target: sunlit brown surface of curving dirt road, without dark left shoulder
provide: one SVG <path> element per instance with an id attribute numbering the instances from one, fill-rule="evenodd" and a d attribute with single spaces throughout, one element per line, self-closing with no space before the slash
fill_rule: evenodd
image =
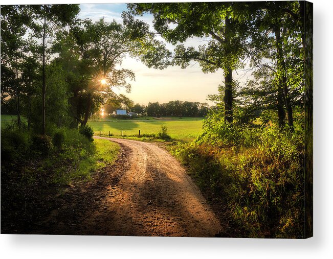
<path id="1" fill-rule="evenodd" d="M 104 211 L 97 210 L 91 216 L 95 226 L 104 222 L 104 234 L 214 237 L 219 232 L 217 217 L 185 169 L 167 151 L 153 143 L 104 139 L 118 143 L 125 154 L 119 165 L 122 176 L 107 190 Z"/>

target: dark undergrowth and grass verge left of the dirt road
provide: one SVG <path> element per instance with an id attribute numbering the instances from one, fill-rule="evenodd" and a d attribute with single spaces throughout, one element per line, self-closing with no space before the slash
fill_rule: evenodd
<path id="1" fill-rule="evenodd" d="M 89 136 L 88 136 L 89 137 Z M 108 140 L 92 142 L 76 129 L 50 127 L 44 136 L 12 127 L 1 129 L 2 232 L 10 224 L 28 229 L 66 185 L 88 180 L 112 164 L 120 147 Z M 39 216 L 38 216 L 39 215 Z"/>

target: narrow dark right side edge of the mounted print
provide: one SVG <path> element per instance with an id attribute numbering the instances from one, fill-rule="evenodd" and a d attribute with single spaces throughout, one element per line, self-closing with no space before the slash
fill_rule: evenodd
<path id="1" fill-rule="evenodd" d="M 313 3 L 300 1 L 305 75 L 305 229 L 304 238 L 313 237 Z"/>

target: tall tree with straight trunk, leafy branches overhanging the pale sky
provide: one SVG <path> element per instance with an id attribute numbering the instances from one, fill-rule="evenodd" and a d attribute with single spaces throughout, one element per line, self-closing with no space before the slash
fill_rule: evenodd
<path id="1" fill-rule="evenodd" d="M 247 20 L 250 12 L 244 11 L 251 4 L 242 3 L 171 3 L 171 4 L 129 4 L 135 15 L 144 12 L 153 14 L 154 29 L 173 44 L 186 39 L 209 37 L 208 44 L 185 48 L 177 45 L 169 56 L 174 64 L 183 68 L 190 60 L 198 61 L 203 72 L 223 69 L 225 79 L 225 122 L 233 121 L 233 78 L 236 68 L 243 66 L 241 59 L 247 42 Z M 199 22 L 198 22 L 199 21 Z"/>

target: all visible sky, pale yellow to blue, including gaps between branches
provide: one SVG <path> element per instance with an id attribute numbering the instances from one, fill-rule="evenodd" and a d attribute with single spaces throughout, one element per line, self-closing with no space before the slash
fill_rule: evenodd
<path id="1" fill-rule="evenodd" d="M 115 19 L 121 23 L 121 12 L 126 10 L 126 4 L 81 4 L 79 18 L 90 18 L 97 21 L 104 18 L 106 21 Z M 145 14 L 138 17 L 150 25 L 152 28 L 152 15 Z M 185 46 L 198 46 L 207 42 L 208 38 L 190 38 L 184 42 Z M 167 48 L 172 50 L 174 46 L 167 43 Z M 205 74 L 198 63 L 192 62 L 190 66 L 182 69 L 180 66 L 170 66 L 166 69 L 148 68 L 130 57 L 126 57 L 122 62 L 122 67 L 131 69 L 136 76 L 135 81 L 131 81 L 131 92 L 125 89 L 115 89 L 117 93 L 123 93 L 135 103 L 147 105 L 148 102 L 165 103 L 173 100 L 190 102 L 213 102 L 207 100 L 208 95 L 216 94 L 219 84 L 223 83 L 223 70 L 216 73 Z M 241 73 L 233 74 L 234 79 L 241 77 Z M 242 77 L 242 80 L 243 77 Z"/>

